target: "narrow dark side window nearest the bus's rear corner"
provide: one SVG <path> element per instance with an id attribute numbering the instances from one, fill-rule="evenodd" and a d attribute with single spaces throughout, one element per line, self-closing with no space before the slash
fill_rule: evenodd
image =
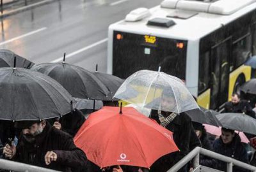
<path id="1" fill-rule="evenodd" d="M 209 89 L 210 78 L 210 52 L 205 52 L 199 57 L 199 94 Z"/>

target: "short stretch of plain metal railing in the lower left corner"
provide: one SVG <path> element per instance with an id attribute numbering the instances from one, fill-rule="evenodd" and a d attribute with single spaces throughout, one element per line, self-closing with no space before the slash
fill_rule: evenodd
<path id="1" fill-rule="evenodd" d="M 36 172 L 60 172 L 52 169 L 47 168 L 41 168 L 38 166 L 31 166 L 29 164 L 24 164 L 20 162 L 15 161 L 9 161 L 6 159 L 0 159 L 0 169 L 7 169 L 11 171 L 17 171 L 17 172 L 30 172 L 30 171 L 36 171 Z"/>

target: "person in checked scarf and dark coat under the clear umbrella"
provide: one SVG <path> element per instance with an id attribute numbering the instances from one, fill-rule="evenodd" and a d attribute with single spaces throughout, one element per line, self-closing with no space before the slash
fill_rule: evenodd
<path id="1" fill-rule="evenodd" d="M 161 109 L 172 109 L 175 106 L 175 98 L 173 93 L 164 89 L 161 97 Z M 168 171 L 174 164 L 179 162 L 189 153 L 189 145 L 191 142 L 191 133 L 195 133 L 191 118 L 186 113 L 175 113 L 163 110 L 152 110 L 150 118 L 166 129 L 173 132 L 173 140 L 175 141 L 179 152 L 164 155 L 151 166 L 150 171 Z M 179 171 L 187 171 L 188 167 L 184 166 Z"/>

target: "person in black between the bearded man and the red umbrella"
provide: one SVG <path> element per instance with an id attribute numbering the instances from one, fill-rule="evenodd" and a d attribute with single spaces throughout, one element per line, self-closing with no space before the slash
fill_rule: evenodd
<path id="1" fill-rule="evenodd" d="M 53 124 L 53 127 L 56 129 L 61 129 L 66 133 L 70 134 L 74 137 L 77 131 L 80 129 L 81 125 L 83 125 L 85 121 L 85 117 L 83 112 L 80 110 L 74 109 L 74 111 L 64 115 L 61 118 L 57 118 Z"/>

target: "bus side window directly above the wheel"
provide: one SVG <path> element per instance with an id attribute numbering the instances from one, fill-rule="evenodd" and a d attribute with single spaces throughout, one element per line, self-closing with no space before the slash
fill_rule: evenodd
<path id="1" fill-rule="evenodd" d="M 232 46 L 232 59 L 234 69 L 241 66 L 251 55 L 252 36 L 248 34 L 243 39 L 236 41 Z"/>

